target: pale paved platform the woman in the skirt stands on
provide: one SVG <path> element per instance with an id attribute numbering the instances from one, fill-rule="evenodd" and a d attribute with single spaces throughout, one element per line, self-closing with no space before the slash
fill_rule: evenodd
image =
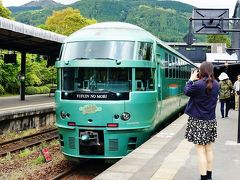
<path id="1" fill-rule="evenodd" d="M 221 118 L 217 109 L 218 137 L 214 143 L 213 180 L 240 180 L 238 111 Z M 193 143 L 184 138 L 187 115 L 182 115 L 139 148 L 99 174 L 94 180 L 198 180 L 200 174 Z"/>

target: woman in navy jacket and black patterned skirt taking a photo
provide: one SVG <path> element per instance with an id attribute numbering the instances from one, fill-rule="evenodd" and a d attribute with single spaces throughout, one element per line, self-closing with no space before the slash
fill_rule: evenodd
<path id="1" fill-rule="evenodd" d="M 195 144 L 201 180 L 212 179 L 212 143 L 217 137 L 215 109 L 219 84 L 214 79 L 213 65 L 204 61 L 200 71 L 192 72 L 184 88 L 189 96 L 185 113 L 189 115 L 185 138 Z"/>

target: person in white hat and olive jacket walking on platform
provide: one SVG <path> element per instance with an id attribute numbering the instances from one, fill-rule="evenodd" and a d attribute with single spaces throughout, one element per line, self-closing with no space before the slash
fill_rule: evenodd
<path id="1" fill-rule="evenodd" d="M 220 80 L 220 91 L 219 91 L 219 100 L 220 100 L 220 111 L 222 118 L 228 117 L 228 111 L 230 109 L 230 100 L 231 100 L 231 91 L 233 90 L 232 82 L 229 80 L 228 75 L 225 72 L 222 72 L 218 77 Z M 225 116 L 224 116 L 224 106 L 225 108 Z"/>

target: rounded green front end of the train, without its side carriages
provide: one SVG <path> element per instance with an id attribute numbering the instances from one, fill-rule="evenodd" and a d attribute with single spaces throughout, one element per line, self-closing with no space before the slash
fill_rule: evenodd
<path id="1" fill-rule="evenodd" d="M 153 42 L 111 39 L 113 31 L 106 28 L 103 38 L 96 26 L 70 36 L 56 62 L 56 126 L 61 151 L 70 160 L 121 158 L 154 129 Z"/>

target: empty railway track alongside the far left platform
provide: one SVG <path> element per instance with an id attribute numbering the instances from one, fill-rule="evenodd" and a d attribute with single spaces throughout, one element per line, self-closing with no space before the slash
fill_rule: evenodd
<path id="1" fill-rule="evenodd" d="M 0 143 L 0 156 L 4 156 L 8 153 L 35 146 L 41 144 L 44 141 L 50 141 L 56 138 L 58 138 L 57 129 L 51 128 L 36 134 L 24 136 L 9 141 L 4 141 Z"/>

